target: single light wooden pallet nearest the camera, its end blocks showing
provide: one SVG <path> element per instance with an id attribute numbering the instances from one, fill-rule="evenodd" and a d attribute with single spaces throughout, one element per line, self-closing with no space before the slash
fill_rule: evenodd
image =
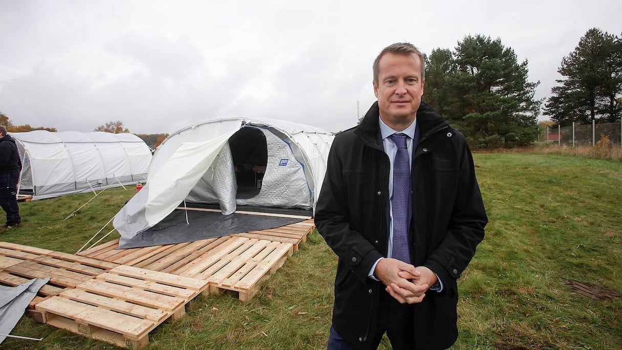
<path id="1" fill-rule="evenodd" d="M 141 349 L 149 332 L 185 315 L 207 281 L 120 265 L 35 305 L 45 322 L 121 347 Z"/>

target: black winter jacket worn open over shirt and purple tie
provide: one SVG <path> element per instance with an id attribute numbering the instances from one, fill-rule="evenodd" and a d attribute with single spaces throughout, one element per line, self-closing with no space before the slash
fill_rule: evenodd
<path id="1" fill-rule="evenodd" d="M 384 285 L 368 277 L 388 241 L 389 157 L 379 143 L 374 103 L 361 124 L 335 136 L 315 210 L 315 224 L 338 256 L 333 327 L 356 348 L 369 348 L 372 319 Z M 471 151 L 463 135 L 422 102 L 412 161 L 412 264 L 443 282 L 414 308 L 417 349 L 455 343 L 457 279 L 475 254 L 488 222 Z M 415 136 L 415 142 L 417 136 Z"/>

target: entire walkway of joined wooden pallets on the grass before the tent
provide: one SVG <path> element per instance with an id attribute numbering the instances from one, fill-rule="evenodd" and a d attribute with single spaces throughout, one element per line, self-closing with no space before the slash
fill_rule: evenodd
<path id="1" fill-rule="evenodd" d="M 116 249 L 119 240 L 78 255 L 0 242 L 0 284 L 51 277 L 30 316 L 52 326 L 140 349 L 149 332 L 185 315 L 199 293 L 233 290 L 253 298 L 259 285 L 305 242 L 313 220 L 277 229 L 157 247 Z"/>

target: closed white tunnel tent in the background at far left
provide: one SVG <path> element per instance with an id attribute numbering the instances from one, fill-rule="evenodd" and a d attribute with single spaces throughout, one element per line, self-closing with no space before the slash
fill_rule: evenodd
<path id="1" fill-rule="evenodd" d="M 138 136 L 96 131 L 9 133 L 22 158 L 20 192 L 44 199 L 146 181 L 151 151 Z"/>

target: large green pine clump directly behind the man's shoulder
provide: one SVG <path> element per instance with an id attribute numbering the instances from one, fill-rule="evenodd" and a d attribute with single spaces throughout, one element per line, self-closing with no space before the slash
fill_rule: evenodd
<path id="1" fill-rule="evenodd" d="M 509 148 L 536 140 L 542 101 L 534 100 L 539 82 L 527 81 L 527 60 L 519 64 L 513 49 L 483 35 L 466 36 L 455 50 L 445 78 L 426 77 L 424 98 L 431 97 L 430 104 L 474 148 Z M 438 56 L 440 62 L 436 52 L 430 55 L 430 67 L 445 66 L 447 50 Z"/>

